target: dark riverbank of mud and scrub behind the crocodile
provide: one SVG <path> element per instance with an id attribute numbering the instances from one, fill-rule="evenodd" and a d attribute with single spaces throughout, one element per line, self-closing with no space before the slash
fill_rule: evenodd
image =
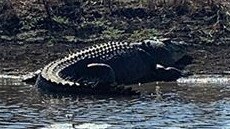
<path id="1" fill-rule="evenodd" d="M 111 5 L 53 1 L 47 4 L 50 15 L 44 3 L 36 0 L 0 4 L 2 74 L 36 71 L 95 43 L 151 38 L 187 42 L 188 55 L 193 60 L 185 67 L 186 71 L 197 74 L 230 71 L 229 3 L 190 1 L 153 6 L 138 2 L 116 1 Z"/>

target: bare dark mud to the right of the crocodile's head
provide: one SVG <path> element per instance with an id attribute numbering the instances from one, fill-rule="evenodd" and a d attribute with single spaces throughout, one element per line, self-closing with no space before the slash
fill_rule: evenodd
<path id="1" fill-rule="evenodd" d="M 193 61 L 185 70 L 194 74 L 229 74 L 229 47 L 229 44 L 191 47 L 189 55 Z"/>

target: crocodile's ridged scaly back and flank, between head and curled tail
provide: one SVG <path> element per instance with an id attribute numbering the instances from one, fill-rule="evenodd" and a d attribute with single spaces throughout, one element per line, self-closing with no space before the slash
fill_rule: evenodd
<path id="1" fill-rule="evenodd" d="M 127 42 L 109 42 L 82 49 L 54 61 L 43 69 L 41 75 L 51 82 L 79 85 L 78 81 L 87 74 L 85 72 L 87 65 L 91 63 L 105 63 L 112 66 L 118 81 L 129 80 L 128 74 L 134 74 L 136 68 L 142 65 L 141 57 L 138 57 L 138 46 Z M 122 80 L 124 78 L 122 75 L 128 78 Z"/>

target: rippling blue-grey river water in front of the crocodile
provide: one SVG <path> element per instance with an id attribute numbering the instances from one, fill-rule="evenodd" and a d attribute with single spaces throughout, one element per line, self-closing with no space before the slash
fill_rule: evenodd
<path id="1" fill-rule="evenodd" d="M 18 77 L 1 78 L 0 128 L 230 129 L 230 85 L 221 81 L 133 86 L 141 96 L 73 97 L 41 93 Z"/>

